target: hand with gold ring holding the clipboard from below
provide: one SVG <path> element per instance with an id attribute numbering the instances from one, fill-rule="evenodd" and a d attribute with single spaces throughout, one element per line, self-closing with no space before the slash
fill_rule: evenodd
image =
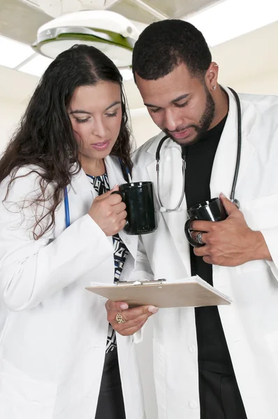
<path id="1" fill-rule="evenodd" d="M 154 306 L 141 306 L 129 309 L 129 305 L 126 302 L 113 302 L 108 300 L 105 303 L 107 311 L 107 319 L 112 325 L 112 328 L 116 330 L 120 335 L 130 336 L 138 332 L 143 325 L 145 325 L 147 319 L 152 314 L 157 313 L 159 309 Z M 117 323 L 117 313 L 121 312 L 124 318 L 124 323 Z"/>

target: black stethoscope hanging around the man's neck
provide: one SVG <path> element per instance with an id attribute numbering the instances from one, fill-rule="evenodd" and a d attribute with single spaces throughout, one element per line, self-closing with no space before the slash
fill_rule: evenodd
<path id="1" fill-rule="evenodd" d="M 228 89 L 231 90 L 231 92 L 233 93 L 233 96 L 235 97 L 235 101 L 237 104 L 237 160 L 235 163 L 235 174 L 233 176 L 233 185 L 232 185 L 232 190 L 231 190 L 231 196 L 230 196 L 230 200 L 232 203 L 234 203 L 237 208 L 240 207 L 240 202 L 235 199 L 235 186 L 237 185 L 237 176 L 238 176 L 238 171 L 240 170 L 240 154 L 241 154 L 241 144 L 242 144 L 242 119 L 241 119 L 241 106 L 240 106 L 240 98 L 238 97 L 238 94 L 231 89 L 231 87 L 228 87 Z M 179 210 L 180 206 L 182 205 L 182 200 L 184 199 L 184 186 L 185 186 L 185 170 L 186 170 L 186 151 L 183 152 L 182 154 L 182 194 L 180 196 L 180 200 L 179 203 L 177 204 L 177 206 L 175 208 L 166 208 L 163 206 L 162 202 L 161 202 L 161 195 L 160 195 L 160 186 L 159 186 L 159 163 L 160 163 L 160 151 L 161 151 L 161 147 L 163 145 L 163 142 L 165 142 L 168 139 L 168 135 L 165 135 L 163 138 L 161 138 L 159 145 L 156 149 L 156 182 L 157 182 L 157 195 L 159 198 L 159 204 L 161 205 L 160 207 L 160 211 L 161 212 L 175 212 L 177 210 Z M 184 147 L 185 149 L 185 147 Z"/>

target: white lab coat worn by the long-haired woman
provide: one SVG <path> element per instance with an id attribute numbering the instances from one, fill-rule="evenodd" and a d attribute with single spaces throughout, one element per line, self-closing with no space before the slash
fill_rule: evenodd
<path id="1" fill-rule="evenodd" d="M 124 183 L 117 158 L 105 166 L 111 187 Z M 25 205 L 23 217 L 19 201 L 36 188 L 38 175 L 17 179 L 0 207 L 0 418 L 94 419 L 108 321 L 105 299 L 85 287 L 113 283 L 112 237 L 87 214 L 96 192 L 81 171 L 68 188 L 71 226 L 65 230 L 61 203 L 54 230 L 35 241 L 34 214 Z M 128 278 L 137 237 L 119 234 L 130 252 Z M 117 335 L 117 345 L 126 419 L 145 418 L 133 337 Z"/>

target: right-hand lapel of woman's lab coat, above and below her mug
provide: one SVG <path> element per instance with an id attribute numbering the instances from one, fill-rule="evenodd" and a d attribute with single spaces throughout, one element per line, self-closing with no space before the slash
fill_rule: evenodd
<path id="1" fill-rule="evenodd" d="M 115 184 L 124 184 L 126 183 L 124 175 L 122 172 L 122 167 L 119 164 L 119 159 L 116 156 L 108 156 L 105 158 L 105 167 L 108 175 L 108 180 L 110 184 L 110 189 L 112 189 Z M 124 233 L 124 230 L 119 231 L 119 237 L 129 249 L 129 252 L 136 260 L 137 257 L 137 247 L 138 247 L 138 236 L 136 235 L 127 235 Z"/>

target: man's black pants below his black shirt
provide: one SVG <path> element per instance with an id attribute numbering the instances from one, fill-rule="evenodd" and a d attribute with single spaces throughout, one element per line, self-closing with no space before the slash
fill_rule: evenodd
<path id="1" fill-rule="evenodd" d="M 247 419 L 235 376 L 199 369 L 200 419 Z"/>

